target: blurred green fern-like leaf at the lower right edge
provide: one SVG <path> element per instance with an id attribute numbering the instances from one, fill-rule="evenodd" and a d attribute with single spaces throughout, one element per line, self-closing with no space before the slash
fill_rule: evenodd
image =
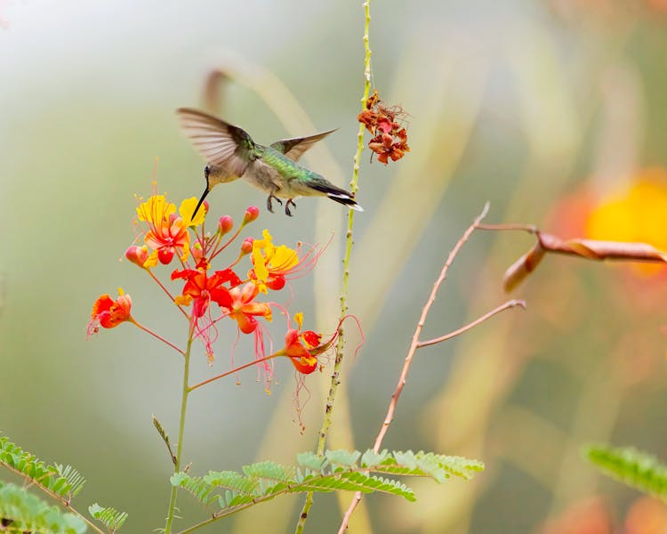
<path id="1" fill-rule="evenodd" d="M 656 457 L 634 447 L 588 445 L 583 454 L 598 469 L 667 502 L 667 465 Z"/>

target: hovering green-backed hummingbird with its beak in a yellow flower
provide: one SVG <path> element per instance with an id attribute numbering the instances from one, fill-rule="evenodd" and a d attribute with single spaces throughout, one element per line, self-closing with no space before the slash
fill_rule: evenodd
<path id="1" fill-rule="evenodd" d="M 203 111 L 180 108 L 176 113 L 183 132 L 207 161 L 204 169 L 206 187 L 193 217 L 215 185 L 238 178 L 244 178 L 254 187 L 269 193 L 266 206 L 271 213 L 273 200 L 282 206 L 280 198 L 286 198 L 285 214 L 292 216 L 290 206 L 296 207 L 294 198 L 317 196 L 364 211 L 352 193 L 297 163 L 303 152 L 334 130 L 308 137 L 281 139 L 265 147 L 253 142 L 242 128 Z"/>

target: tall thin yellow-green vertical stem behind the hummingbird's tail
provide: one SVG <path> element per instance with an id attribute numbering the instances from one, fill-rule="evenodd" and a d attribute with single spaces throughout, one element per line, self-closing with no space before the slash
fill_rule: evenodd
<path id="1" fill-rule="evenodd" d="M 366 0 L 364 7 L 364 95 L 361 98 L 361 109 L 366 109 L 366 101 L 368 94 L 371 92 L 371 47 L 368 40 L 368 28 L 371 24 L 371 1 Z M 364 150 L 364 129 L 365 125 L 359 124 L 357 153 L 354 156 L 354 165 L 352 167 L 352 180 L 350 181 L 350 190 L 352 194 L 358 191 L 358 176 L 359 176 L 359 161 L 361 160 L 361 153 Z M 341 289 L 341 320 L 348 312 L 348 288 L 350 284 L 350 255 L 352 253 L 352 229 L 354 228 L 354 210 L 348 211 L 348 231 L 345 241 L 345 255 L 342 260 L 342 289 Z M 339 328 L 338 343 L 336 344 L 336 358 L 333 362 L 333 374 L 331 376 L 331 385 L 329 387 L 329 394 L 326 398 L 325 416 L 322 419 L 322 426 L 319 430 L 319 437 L 317 439 L 317 454 L 321 455 L 325 451 L 326 437 L 329 433 L 329 428 L 332 424 L 333 403 L 336 399 L 336 392 L 338 391 L 338 384 L 341 384 L 341 369 L 343 350 L 345 348 L 345 338 L 343 336 L 343 329 Z M 302 534 L 303 529 L 308 519 L 310 506 L 313 504 L 313 492 L 309 491 L 306 495 L 306 501 L 303 503 L 299 522 L 296 525 L 296 534 Z"/>

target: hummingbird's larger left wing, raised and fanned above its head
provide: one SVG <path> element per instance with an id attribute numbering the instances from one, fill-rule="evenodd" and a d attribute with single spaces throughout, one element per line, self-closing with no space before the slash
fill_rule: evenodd
<path id="1" fill-rule="evenodd" d="M 257 158 L 253 140 L 238 126 L 197 109 L 179 108 L 176 113 L 183 132 L 206 161 L 221 166 L 229 175 L 241 176 Z"/>

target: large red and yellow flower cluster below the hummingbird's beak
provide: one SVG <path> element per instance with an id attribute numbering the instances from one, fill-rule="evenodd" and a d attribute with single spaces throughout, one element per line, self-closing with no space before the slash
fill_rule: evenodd
<path id="1" fill-rule="evenodd" d="M 204 209 L 193 218 L 195 206 L 197 198 L 189 198 L 177 210 L 164 195 L 157 194 L 141 201 L 135 220 L 140 228 L 139 236 L 126 250 L 125 257 L 145 270 L 171 299 L 174 308 L 189 322 L 189 339 L 202 341 L 210 362 L 213 361 L 213 343 L 218 337 L 216 325 L 229 318 L 236 323 L 239 334 L 254 336 L 254 360 L 262 364 L 267 380 L 271 376 L 268 361 L 277 356 L 289 358 L 301 374 L 312 373 L 318 366 L 317 356 L 331 346 L 330 342 L 322 344 L 321 334 L 302 331 L 301 313 L 293 316 L 298 328 L 291 328 L 290 313 L 285 307 L 263 299 L 269 292 L 283 289 L 287 280 L 312 269 L 322 250 L 303 247 L 301 243 L 296 249 L 276 246 L 269 231 L 264 230 L 262 239 L 243 239 L 232 261 L 221 269 L 214 269 L 213 264 L 220 261 L 221 253 L 237 242 L 245 226 L 259 217 L 260 210 L 256 206 L 248 207 L 243 223 L 235 232 L 232 232 L 234 221 L 229 215 L 218 220 L 214 231 L 205 231 L 208 205 L 205 203 Z M 241 270 L 244 260 L 249 260 L 245 273 Z M 160 265 L 172 263 L 176 264 L 176 269 L 169 279 L 176 289 L 168 287 L 170 282 L 161 281 L 154 272 Z M 135 320 L 131 308 L 130 295 L 122 290 L 116 300 L 110 295 L 101 295 L 92 306 L 88 335 L 96 334 L 100 327 L 115 328 L 122 322 L 130 322 L 185 354 Z M 276 312 L 287 321 L 285 345 L 267 355 L 264 326 Z"/>

